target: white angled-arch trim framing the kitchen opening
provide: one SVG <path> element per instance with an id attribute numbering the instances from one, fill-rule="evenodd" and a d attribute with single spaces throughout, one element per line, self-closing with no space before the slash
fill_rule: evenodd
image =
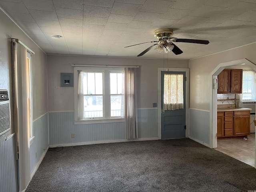
<path id="1" fill-rule="evenodd" d="M 211 72 L 210 74 L 210 82 L 212 82 L 212 86 L 210 86 L 210 148 L 217 147 L 217 89 L 213 89 L 213 80 L 217 78 L 218 74 L 222 72 L 225 67 L 243 65 L 246 64 L 254 71 L 256 71 L 256 65 L 250 62 L 247 59 L 234 60 L 229 62 L 224 62 L 218 64 L 218 66 Z M 255 144 L 256 150 L 256 144 Z M 255 164 L 256 164 L 256 154 L 255 154 Z M 254 166 L 255 167 L 255 166 Z"/>

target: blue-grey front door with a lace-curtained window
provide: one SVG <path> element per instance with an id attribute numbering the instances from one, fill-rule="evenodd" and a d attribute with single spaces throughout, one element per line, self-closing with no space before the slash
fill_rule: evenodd
<path id="1" fill-rule="evenodd" d="M 185 138 L 186 72 L 161 72 L 161 113 L 162 139 Z"/>

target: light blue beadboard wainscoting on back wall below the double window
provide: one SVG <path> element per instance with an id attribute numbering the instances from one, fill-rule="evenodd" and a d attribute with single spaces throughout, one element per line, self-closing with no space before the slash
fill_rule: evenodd
<path id="1" fill-rule="evenodd" d="M 74 124 L 74 112 L 49 112 L 49 144 L 125 139 L 124 122 Z M 74 138 L 71 138 L 74 134 Z M 139 138 L 158 137 L 157 108 L 138 109 Z"/>

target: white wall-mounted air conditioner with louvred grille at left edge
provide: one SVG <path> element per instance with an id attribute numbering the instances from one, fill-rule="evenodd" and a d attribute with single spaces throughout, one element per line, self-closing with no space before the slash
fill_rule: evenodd
<path id="1" fill-rule="evenodd" d="M 11 129 L 10 101 L 8 91 L 0 89 L 0 135 Z"/>

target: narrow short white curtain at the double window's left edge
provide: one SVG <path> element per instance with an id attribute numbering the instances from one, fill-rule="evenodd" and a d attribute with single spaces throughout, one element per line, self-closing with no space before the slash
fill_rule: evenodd
<path id="1" fill-rule="evenodd" d="M 78 120 L 84 119 L 84 72 L 78 70 Z"/>

